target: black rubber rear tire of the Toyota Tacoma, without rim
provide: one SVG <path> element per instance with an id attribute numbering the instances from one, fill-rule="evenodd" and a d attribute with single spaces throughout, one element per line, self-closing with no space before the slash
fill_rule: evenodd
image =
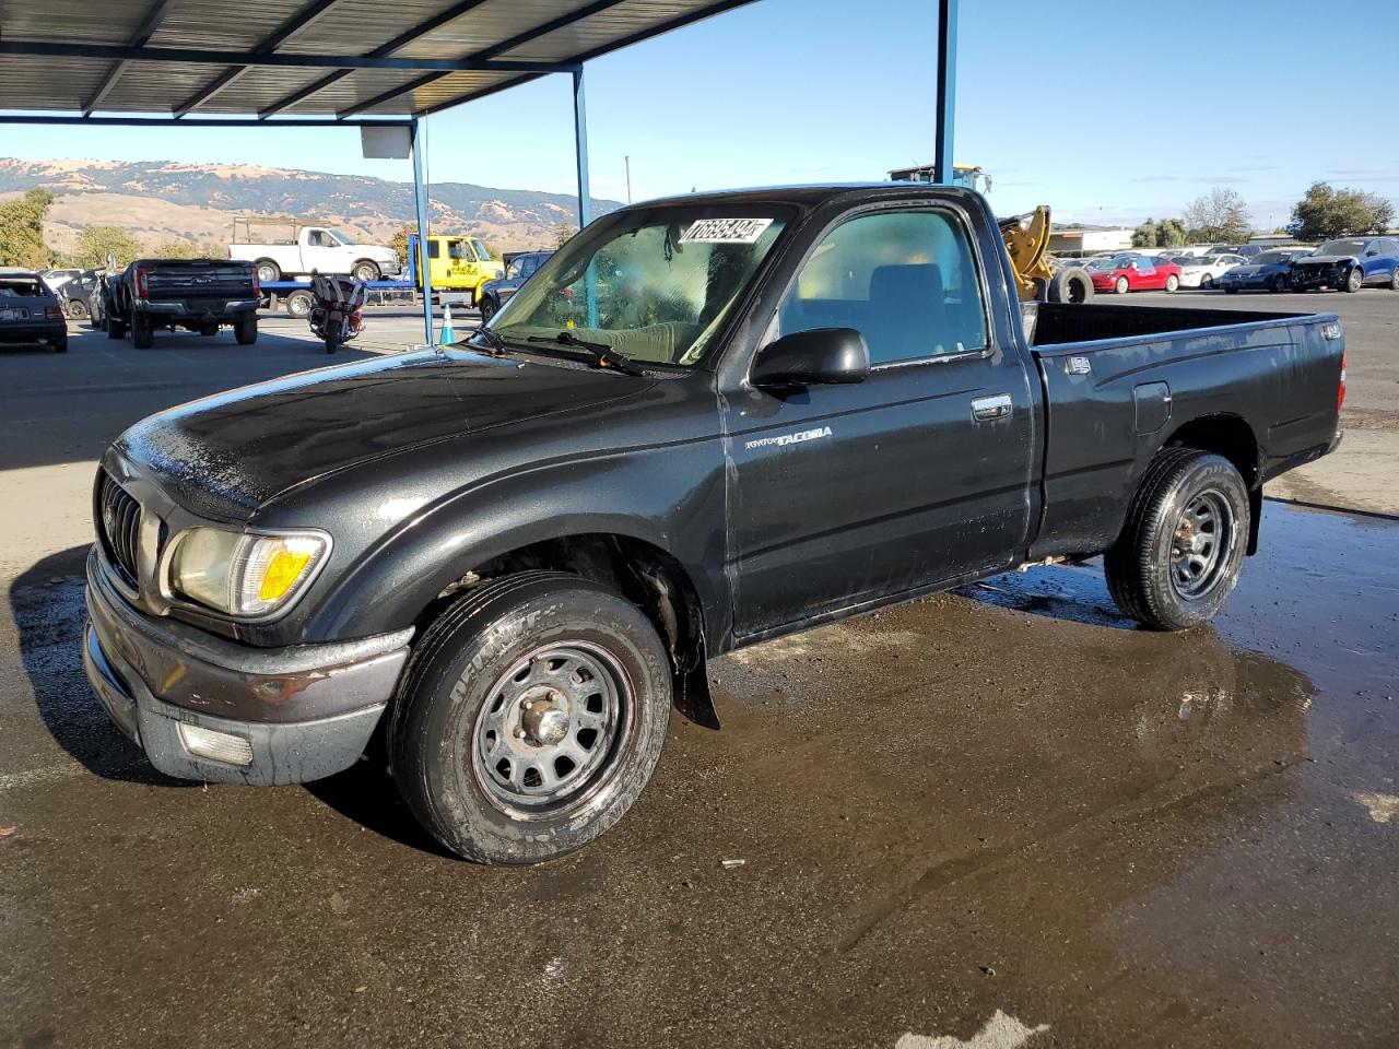
<path id="1" fill-rule="evenodd" d="M 1186 509 L 1217 497 L 1228 522 L 1209 586 L 1185 594 L 1175 582 L 1174 554 Z M 1112 600 L 1137 622 L 1158 631 L 1182 631 L 1209 622 L 1238 583 L 1249 534 L 1249 499 L 1244 478 L 1223 456 L 1193 448 L 1168 448 L 1147 466 L 1128 508 L 1118 541 L 1102 558 Z"/>

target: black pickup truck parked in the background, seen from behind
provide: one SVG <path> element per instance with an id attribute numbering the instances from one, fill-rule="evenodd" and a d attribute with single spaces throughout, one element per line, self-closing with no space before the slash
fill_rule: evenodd
<path id="1" fill-rule="evenodd" d="M 257 341 L 262 288 L 253 264 L 231 259 L 137 259 L 104 284 L 102 326 L 109 338 L 127 333 L 139 350 L 155 330 L 178 327 L 217 336 L 232 327 L 239 345 Z"/>

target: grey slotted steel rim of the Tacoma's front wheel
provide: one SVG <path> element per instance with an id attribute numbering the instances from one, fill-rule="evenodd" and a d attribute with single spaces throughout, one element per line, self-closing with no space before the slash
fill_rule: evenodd
<path id="1" fill-rule="evenodd" d="M 634 709 L 631 681 L 609 652 L 585 641 L 534 649 L 487 692 L 471 773 L 512 818 L 578 811 L 611 782 Z"/>

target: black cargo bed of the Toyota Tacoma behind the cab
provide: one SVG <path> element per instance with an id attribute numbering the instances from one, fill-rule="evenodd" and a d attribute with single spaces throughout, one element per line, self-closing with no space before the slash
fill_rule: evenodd
<path id="1" fill-rule="evenodd" d="M 1336 441 L 1335 313 L 1046 302 L 1025 336 L 1048 421 L 1034 558 L 1111 544 L 1157 449 L 1191 443 L 1186 421 L 1231 435 L 1255 492 Z"/>

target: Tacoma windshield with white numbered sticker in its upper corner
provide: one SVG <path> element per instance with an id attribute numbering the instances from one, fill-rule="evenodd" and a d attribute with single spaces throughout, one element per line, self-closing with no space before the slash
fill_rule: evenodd
<path id="1" fill-rule="evenodd" d="M 571 331 L 638 361 L 693 365 L 785 225 L 734 208 L 624 213 L 564 245 L 488 327 L 512 343 Z"/>

